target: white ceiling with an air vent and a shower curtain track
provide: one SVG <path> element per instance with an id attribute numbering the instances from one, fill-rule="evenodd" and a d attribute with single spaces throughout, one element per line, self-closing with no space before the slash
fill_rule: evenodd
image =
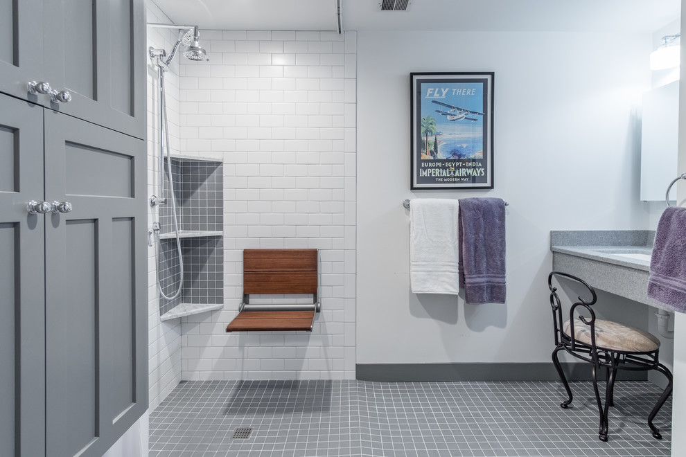
<path id="1" fill-rule="evenodd" d="M 337 0 L 152 0 L 176 24 L 221 30 L 338 30 Z M 343 30 L 648 31 L 680 0 L 340 0 Z"/>

